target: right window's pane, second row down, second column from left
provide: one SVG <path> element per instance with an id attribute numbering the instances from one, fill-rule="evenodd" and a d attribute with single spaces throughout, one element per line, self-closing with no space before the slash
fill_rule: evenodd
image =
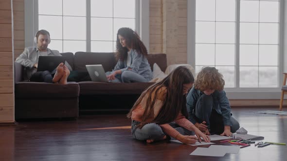
<path id="1" fill-rule="evenodd" d="M 216 22 L 216 43 L 235 43 L 235 22 Z"/>

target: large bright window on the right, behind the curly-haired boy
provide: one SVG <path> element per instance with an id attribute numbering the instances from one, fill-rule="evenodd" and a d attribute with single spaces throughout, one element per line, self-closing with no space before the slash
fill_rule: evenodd
<path id="1" fill-rule="evenodd" d="M 279 87 L 280 0 L 196 0 L 195 67 L 215 66 L 225 87 Z"/>

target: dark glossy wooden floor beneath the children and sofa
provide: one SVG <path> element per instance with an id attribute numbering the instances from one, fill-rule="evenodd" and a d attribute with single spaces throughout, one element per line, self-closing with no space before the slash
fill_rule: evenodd
<path id="1" fill-rule="evenodd" d="M 287 143 L 287 115 L 253 113 L 261 110 L 278 109 L 233 108 L 232 112 L 250 134 Z M 191 156 L 197 147 L 136 141 L 129 126 L 130 120 L 123 114 L 18 122 L 15 127 L 0 127 L 0 161 L 287 161 L 284 145 L 251 145 L 224 157 Z"/>

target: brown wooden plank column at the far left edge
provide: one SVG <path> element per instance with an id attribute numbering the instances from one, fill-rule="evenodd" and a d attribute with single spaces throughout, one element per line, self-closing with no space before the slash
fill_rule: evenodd
<path id="1" fill-rule="evenodd" d="M 0 1 L 0 123 L 14 118 L 12 0 Z"/>

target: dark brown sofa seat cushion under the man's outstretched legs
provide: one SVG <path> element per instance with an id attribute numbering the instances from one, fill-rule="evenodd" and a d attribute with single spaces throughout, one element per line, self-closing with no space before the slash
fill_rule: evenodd
<path id="1" fill-rule="evenodd" d="M 45 82 L 21 81 L 15 83 L 15 97 L 79 97 L 80 88 L 76 82 L 59 85 Z"/>

